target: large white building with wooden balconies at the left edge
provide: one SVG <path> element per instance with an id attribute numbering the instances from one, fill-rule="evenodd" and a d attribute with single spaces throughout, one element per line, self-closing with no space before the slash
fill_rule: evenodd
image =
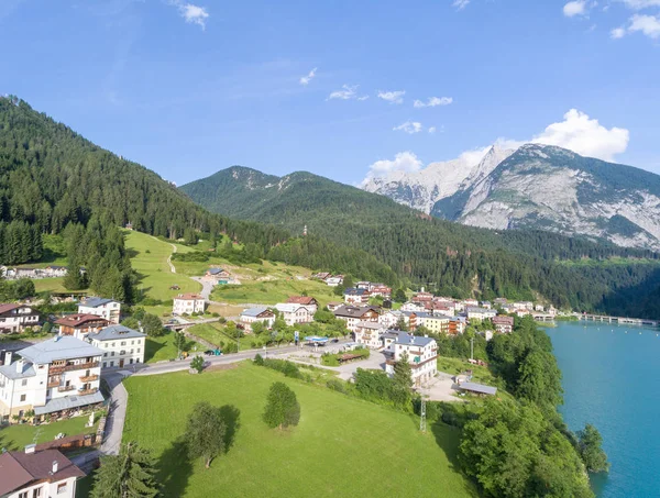
<path id="1" fill-rule="evenodd" d="M 0 419 L 23 417 L 34 410 L 36 420 L 76 414 L 103 402 L 99 391 L 103 351 L 85 341 L 57 335 L 18 352 L 7 353 L 0 366 Z"/>

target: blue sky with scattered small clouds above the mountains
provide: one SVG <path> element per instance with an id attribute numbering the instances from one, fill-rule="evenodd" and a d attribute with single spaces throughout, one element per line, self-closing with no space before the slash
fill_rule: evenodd
<path id="1" fill-rule="evenodd" d="M 0 44 L 0 93 L 178 185 L 498 139 L 660 173 L 660 0 L 2 0 Z"/>

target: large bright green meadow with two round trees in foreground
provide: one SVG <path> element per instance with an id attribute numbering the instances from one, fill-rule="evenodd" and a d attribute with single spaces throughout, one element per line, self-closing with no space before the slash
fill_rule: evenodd
<path id="1" fill-rule="evenodd" d="M 289 385 L 300 402 L 300 423 L 292 431 L 262 421 L 274 381 Z M 477 496 L 455 469 L 452 428 L 435 425 L 422 434 L 415 417 L 266 368 L 241 364 L 201 375 L 131 377 L 125 386 L 123 439 L 155 452 L 165 496 Z M 233 445 L 210 469 L 188 463 L 177 444 L 201 400 L 240 410 Z"/>

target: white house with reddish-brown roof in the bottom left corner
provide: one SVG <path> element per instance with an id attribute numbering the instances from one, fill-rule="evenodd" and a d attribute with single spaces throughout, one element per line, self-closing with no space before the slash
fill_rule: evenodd
<path id="1" fill-rule="evenodd" d="M 58 450 L 0 454 L 0 496 L 2 498 L 74 498 L 76 480 L 85 473 Z"/>

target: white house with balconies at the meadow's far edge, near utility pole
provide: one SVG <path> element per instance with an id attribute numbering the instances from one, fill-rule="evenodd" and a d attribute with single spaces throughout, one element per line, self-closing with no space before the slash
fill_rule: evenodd
<path id="1" fill-rule="evenodd" d="M 385 372 L 394 375 L 394 365 L 406 358 L 413 370 L 413 385 L 420 387 L 438 374 L 438 344 L 435 339 L 400 332 L 385 351 Z"/>

